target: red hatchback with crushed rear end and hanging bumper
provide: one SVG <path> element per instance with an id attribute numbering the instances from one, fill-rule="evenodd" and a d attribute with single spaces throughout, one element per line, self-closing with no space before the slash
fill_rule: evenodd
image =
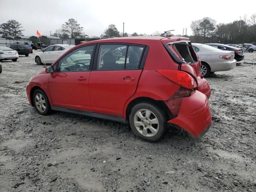
<path id="1" fill-rule="evenodd" d="M 116 50 L 125 54 L 116 56 Z M 32 77 L 28 100 L 36 111 L 70 112 L 123 123 L 146 140 L 168 123 L 194 137 L 210 128 L 211 90 L 188 38 L 140 36 L 80 44 Z"/>

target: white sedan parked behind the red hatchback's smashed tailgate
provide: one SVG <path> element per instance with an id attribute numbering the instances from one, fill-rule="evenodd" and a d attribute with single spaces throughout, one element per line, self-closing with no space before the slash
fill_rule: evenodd
<path id="1" fill-rule="evenodd" d="M 200 70 L 204 77 L 211 72 L 228 71 L 236 66 L 234 51 L 223 51 L 200 43 L 192 43 L 192 46 L 201 60 Z"/>

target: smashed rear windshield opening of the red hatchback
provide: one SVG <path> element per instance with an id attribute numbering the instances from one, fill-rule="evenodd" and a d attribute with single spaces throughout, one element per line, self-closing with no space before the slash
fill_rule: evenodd
<path id="1" fill-rule="evenodd" d="M 194 63 L 198 61 L 194 49 L 191 46 L 191 43 L 188 41 L 184 42 L 174 42 L 167 43 L 168 52 L 172 56 L 172 59 L 177 63 L 187 64 Z"/>

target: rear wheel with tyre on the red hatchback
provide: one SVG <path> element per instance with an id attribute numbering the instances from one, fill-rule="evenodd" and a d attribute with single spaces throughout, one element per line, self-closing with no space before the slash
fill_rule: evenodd
<path id="1" fill-rule="evenodd" d="M 145 140 L 155 142 L 166 132 L 166 116 L 155 104 L 136 104 L 129 116 L 132 131 Z"/>

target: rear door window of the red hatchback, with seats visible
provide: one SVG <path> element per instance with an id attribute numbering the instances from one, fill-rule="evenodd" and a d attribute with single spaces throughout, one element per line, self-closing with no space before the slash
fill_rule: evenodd
<path id="1" fill-rule="evenodd" d="M 97 70 L 138 69 L 143 50 L 144 46 L 102 44 L 98 53 Z"/>

